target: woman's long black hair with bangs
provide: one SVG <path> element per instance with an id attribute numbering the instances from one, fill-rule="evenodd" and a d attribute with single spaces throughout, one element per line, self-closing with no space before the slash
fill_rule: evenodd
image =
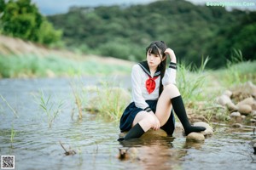
<path id="1" fill-rule="evenodd" d="M 159 88 L 159 95 L 163 92 L 163 84 L 162 79 L 166 73 L 166 51 L 167 45 L 163 41 L 154 41 L 149 44 L 149 46 L 146 48 L 146 55 L 149 54 L 156 54 L 160 56 L 161 62 L 160 65 L 160 88 Z M 162 58 L 161 58 L 162 56 Z"/>

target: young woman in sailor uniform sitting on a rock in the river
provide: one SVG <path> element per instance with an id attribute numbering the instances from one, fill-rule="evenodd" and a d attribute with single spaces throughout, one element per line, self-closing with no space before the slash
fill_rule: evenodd
<path id="1" fill-rule="evenodd" d="M 166 70 L 166 56 L 171 62 Z M 136 139 L 150 128 L 163 128 L 168 135 L 174 131 L 172 108 L 183 124 L 185 134 L 204 131 L 189 123 L 183 99 L 175 85 L 176 56 L 163 41 L 151 42 L 146 48 L 147 61 L 134 65 L 131 71 L 132 101 L 120 119 L 121 132 L 129 131 L 124 138 Z"/>

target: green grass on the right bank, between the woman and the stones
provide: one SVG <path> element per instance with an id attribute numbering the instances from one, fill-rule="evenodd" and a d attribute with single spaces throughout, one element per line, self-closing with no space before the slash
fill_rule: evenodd
<path id="1" fill-rule="evenodd" d="M 177 87 L 189 111 L 204 116 L 207 122 L 229 121 L 230 111 L 217 104 L 217 97 L 244 82 L 256 83 L 256 61 L 244 61 L 239 51 L 236 55 L 226 68 L 216 71 L 205 69 L 208 59 L 197 69 L 178 65 Z"/>

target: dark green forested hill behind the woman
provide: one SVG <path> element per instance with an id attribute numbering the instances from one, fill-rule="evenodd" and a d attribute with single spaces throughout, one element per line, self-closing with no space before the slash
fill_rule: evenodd
<path id="1" fill-rule="evenodd" d="M 256 13 L 196 6 L 183 0 L 147 5 L 70 8 L 67 14 L 48 16 L 63 31 L 69 47 L 85 54 L 121 59 L 145 59 L 145 48 L 163 40 L 179 60 L 218 68 L 239 54 L 256 59 Z"/>

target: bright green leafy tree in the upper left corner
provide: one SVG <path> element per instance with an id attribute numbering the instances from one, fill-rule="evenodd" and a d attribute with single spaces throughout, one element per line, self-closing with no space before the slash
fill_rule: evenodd
<path id="1" fill-rule="evenodd" d="M 9 0 L 7 3 L 1 0 L 0 3 L 3 10 L 1 24 L 4 35 L 45 44 L 61 39 L 61 31 L 54 30 L 31 0 Z"/>

